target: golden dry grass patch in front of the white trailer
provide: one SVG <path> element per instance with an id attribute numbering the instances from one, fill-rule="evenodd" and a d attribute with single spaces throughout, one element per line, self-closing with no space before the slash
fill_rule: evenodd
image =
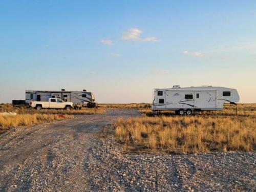
<path id="1" fill-rule="evenodd" d="M 198 153 L 256 150 L 256 104 L 225 105 L 223 111 L 192 116 L 144 115 L 115 123 L 115 136 L 127 151 Z"/>

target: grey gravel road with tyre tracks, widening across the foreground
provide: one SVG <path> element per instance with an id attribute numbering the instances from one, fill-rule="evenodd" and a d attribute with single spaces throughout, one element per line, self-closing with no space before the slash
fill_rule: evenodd
<path id="1" fill-rule="evenodd" d="M 129 155 L 98 132 L 136 110 L 108 110 L 0 136 L 0 191 L 255 191 L 256 153 Z"/>

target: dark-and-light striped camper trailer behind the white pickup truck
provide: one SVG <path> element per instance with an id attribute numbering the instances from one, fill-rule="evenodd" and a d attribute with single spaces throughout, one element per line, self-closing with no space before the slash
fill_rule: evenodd
<path id="1" fill-rule="evenodd" d="M 74 106 L 87 104 L 89 108 L 96 107 L 95 97 L 92 92 L 83 91 L 26 91 L 26 103 L 30 101 L 48 101 L 49 98 L 62 99 L 73 102 Z"/>

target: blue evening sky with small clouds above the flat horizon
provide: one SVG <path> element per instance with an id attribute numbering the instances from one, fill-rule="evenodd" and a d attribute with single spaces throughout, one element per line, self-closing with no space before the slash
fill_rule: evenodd
<path id="1" fill-rule="evenodd" d="M 173 85 L 256 102 L 256 1 L 0 2 L 0 103 L 61 89 L 152 102 Z"/>

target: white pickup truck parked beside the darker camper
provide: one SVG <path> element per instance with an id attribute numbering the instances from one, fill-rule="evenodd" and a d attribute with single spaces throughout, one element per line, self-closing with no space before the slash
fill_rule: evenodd
<path id="1" fill-rule="evenodd" d="M 71 110 L 71 108 L 74 106 L 72 102 L 64 102 L 63 100 L 57 98 L 50 98 L 48 102 L 30 101 L 29 105 L 31 108 L 35 108 L 36 110 L 41 110 L 42 108 Z"/>

